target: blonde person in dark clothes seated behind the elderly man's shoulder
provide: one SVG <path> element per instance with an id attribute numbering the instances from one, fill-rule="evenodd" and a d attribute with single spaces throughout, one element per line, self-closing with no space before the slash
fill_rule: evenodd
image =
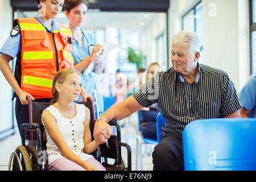
<path id="1" fill-rule="evenodd" d="M 146 79 L 149 80 L 160 71 L 158 63 L 151 63 L 147 69 Z M 158 104 L 152 104 L 149 107 L 144 107 L 139 111 L 139 125 L 141 126 L 141 134 L 144 138 L 157 140 L 156 132 L 156 116 L 159 113 Z"/>

